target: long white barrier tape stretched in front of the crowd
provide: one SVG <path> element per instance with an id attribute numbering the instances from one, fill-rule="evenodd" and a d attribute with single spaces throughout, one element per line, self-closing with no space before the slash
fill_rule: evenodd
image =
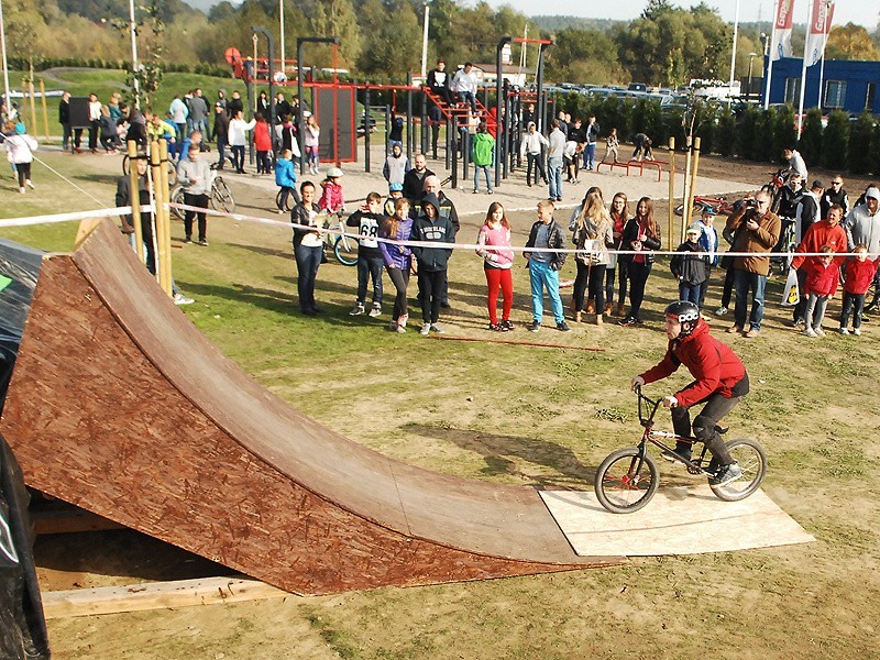
<path id="1" fill-rule="evenodd" d="M 167 205 L 170 208 L 180 209 L 184 211 L 196 211 L 196 212 L 205 212 L 210 213 L 211 216 L 220 217 L 220 218 L 229 218 L 231 220 L 239 220 L 242 222 L 253 222 L 256 224 L 267 224 L 270 227 L 284 227 L 287 229 L 294 229 L 295 231 L 309 231 L 309 232 L 317 232 L 320 234 L 332 234 L 332 235 L 344 235 L 348 239 L 358 240 L 361 238 L 358 233 L 350 233 L 346 231 L 342 231 L 340 229 L 333 228 L 321 228 L 321 227 L 309 227 L 299 229 L 300 226 L 293 224 L 289 221 L 284 220 L 273 220 L 271 218 L 261 218 L 258 216 L 248 216 L 244 213 L 227 213 L 224 211 L 216 211 L 213 209 L 206 209 L 201 207 L 194 207 L 186 204 L 169 204 Z M 151 210 L 154 210 L 151 207 Z M 109 218 L 113 216 L 130 216 L 131 215 L 131 207 L 118 207 L 113 209 L 97 209 L 94 211 L 77 211 L 74 213 L 57 213 L 53 216 L 32 216 L 30 218 L 9 218 L 6 220 L 0 220 L 0 229 L 7 227 L 28 227 L 33 224 L 50 224 L 53 222 L 70 222 L 73 220 L 86 220 L 86 219 L 94 219 L 94 218 Z M 440 248 L 446 250 L 493 250 L 492 246 L 486 248 L 485 245 L 479 245 L 476 243 L 440 243 L 440 242 L 430 242 L 430 241 L 394 241 L 392 239 L 383 239 L 383 238 L 374 238 L 372 239 L 380 243 L 387 243 L 388 245 L 402 245 L 406 248 Z M 520 245 L 512 245 L 509 248 L 513 252 L 552 252 L 559 254 L 583 254 L 583 250 L 576 249 L 559 249 L 554 250 L 551 248 L 525 248 Z M 630 250 L 607 250 L 607 254 L 616 254 L 616 255 L 629 255 L 635 256 L 637 254 L 641 255 L 654 255 L 654 256 L 674 256 L 679 255 L 688 255 L 688 256 L 756 256 L 755 252 L 717 252 L 715 254 L 708 252 L 678 252 L 678 251 L 670 251 L 670 250 L 652 250 L 649 252 L 632 252 Z M 823 256 L 824 252 L 763 252 L 760 253 L 761 256 Z M 854 252 L 836 252 L 835 256 L 854 256 Z M 880 256 L 880 254 L 869 252 L 869 257 L 876 258 Z"/>

